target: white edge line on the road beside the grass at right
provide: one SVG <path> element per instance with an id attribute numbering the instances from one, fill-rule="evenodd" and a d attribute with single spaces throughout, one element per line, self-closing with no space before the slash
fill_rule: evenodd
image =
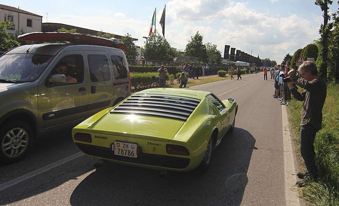
<path id="1" fill-rule="evenodd" d="M 292 139 L 290 126 L 287 119 L 287 109 L 285 105 L 281 107 L 283 117 L 283 144 L 284 144 L 284 174 L 285 174 L 285 205 L 300 206 L 299 192 L 292 186 L 297 182 L 296 169 L 294 167 Z"/>

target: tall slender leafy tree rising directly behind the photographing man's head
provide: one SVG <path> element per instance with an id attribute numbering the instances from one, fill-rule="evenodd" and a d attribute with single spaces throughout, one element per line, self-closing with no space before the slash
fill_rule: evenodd
<path id="1" fill-rule="evenodd" d="M 322 11 L 324 11 L 324 24 L 320 26 L 319 33 L 321 35 L 322 49 L 319 54 L 323 57 L 322 61 L 319 60 L 319 76 L 322 77 L 325 81 L 327 81 L 327 58 L 328 58 L 328 38 L 330 30 L 332 29 L 332 24 L 328 24 L 331 16 L 329 16 L 328 9 L 329 4 L 332 4 L 332 0 L 316 0 L 315 4 L 319 5 Z M 318 61 L 318 59 L 317 59 Z"/>

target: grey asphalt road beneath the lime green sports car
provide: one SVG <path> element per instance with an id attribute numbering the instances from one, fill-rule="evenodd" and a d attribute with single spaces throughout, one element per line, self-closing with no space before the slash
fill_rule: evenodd
<path id="1" fill-rule="evenodd" d="M 111 163 L 95 169 L 97 160 L 78 150 L 69 130 L 40 138 L 21 162 L 0 165 L 0 205 L 294 205 L 286 201 L 282 106 L 272 99 L 273 81 L 259 73 L 188 89 L 239 104 L 235 129 L 213 151 L 206 174 L 161 178 Z"/>

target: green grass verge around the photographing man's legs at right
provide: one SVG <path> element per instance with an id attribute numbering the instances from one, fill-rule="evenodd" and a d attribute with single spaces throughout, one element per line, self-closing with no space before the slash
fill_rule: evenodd
<path id="1" fill-rule="evenodd" d="M 303 89 L 299 89 L 300 91 Z M 303 102 L 292 98 L 288 106 L 294 140 L 300 143 L 300 116 Z M 315 139 L 319 179 L 301 188 L 301 198 L 311 206 L 339 206 L 339 85 L 330 83 L 323 108 L 323 128 Z M 300 150 L 298 152 L 300 155 Z M 299 157 L 301 161 L 302 158 Z M 304 165 L 304 164 L 303 164 Z"/>

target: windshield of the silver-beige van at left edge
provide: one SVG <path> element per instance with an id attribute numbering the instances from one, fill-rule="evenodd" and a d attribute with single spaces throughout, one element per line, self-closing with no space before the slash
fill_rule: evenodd
<path id="1" fill-rule="evenodd" d="M 5 54 L 0 57 L 0 80 L 33 82 L 52 60 L 51 55 Z"/>

